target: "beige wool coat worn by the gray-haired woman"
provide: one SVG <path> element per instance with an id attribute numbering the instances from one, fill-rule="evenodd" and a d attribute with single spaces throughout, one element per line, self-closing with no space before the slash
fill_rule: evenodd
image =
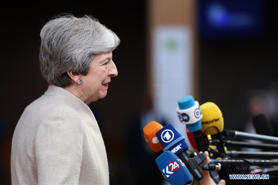
<path id="1" fill-rule="evenodd" d="M 12 184 L 109 184 L 99 125 L 90 108 L 50 85 L 26 107 L 11 149 Z"/>

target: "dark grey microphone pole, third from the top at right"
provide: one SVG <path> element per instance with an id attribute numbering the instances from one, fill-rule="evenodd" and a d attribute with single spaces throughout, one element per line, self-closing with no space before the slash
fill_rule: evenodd
<path id="1" fill-rule="evenodd" d="M 226 155 L 231 158 L 260 158 L 260 159 L 278 159 L 278 152 L 243 152 L 243 151 L 227 151 Z"/>

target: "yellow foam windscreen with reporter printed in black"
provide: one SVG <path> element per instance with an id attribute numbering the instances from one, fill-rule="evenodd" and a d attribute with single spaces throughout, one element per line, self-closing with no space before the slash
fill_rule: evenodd
<path id="1" fill-rule="evenodd" d="M 219 129 L 219 132 L 222 132 L 224 128 L 224 119 L 219 107 L 213 102 L 206 102 L 200 105 L 200 109 L 203 114 L 203 118 L 201 119 L 201 131 L 204 133 L 206 128 L 215 126 Z M 208 128 L 205 135 L 217 134 L 218 130 L 215 127 Z"/>

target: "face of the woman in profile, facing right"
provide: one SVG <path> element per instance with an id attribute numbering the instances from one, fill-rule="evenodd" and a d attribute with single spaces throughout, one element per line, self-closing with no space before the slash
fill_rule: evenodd
<path id="1" fill-rule="evenodd" d="M 88 102 L 104 98 L 111 77 L 117 75 L 116 65 L 112 61 L 112 52 L 97 55 L 91 63 L 88 74 L 81 77 L 83 95 L 87 97 Z"/>

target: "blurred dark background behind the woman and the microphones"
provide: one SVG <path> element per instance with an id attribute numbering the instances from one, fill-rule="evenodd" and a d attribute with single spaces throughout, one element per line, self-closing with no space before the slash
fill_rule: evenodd
<path id="1" fill-rule="evenodd" d="M 175 108 L 193 95 L 214 102 L 224 128 L 248 131 L 263 112 L 278 137 L 277 16 L 275 2 L 137 1 L 81 8 L 2 11 L 0 182 L 11 183 L 11 140 L 27 105 L 48 88 L 40 75 L 40 29 L 55 15 L 91 14 L 115 32 L 119 75 L 106 98 L 91 103 L 107 150 L 111 184 L 162 184 L 157 157 L 142 128 L 152 120 L 186 134 Z M 247 125 L 247 126 L 246 126 Z"/>

